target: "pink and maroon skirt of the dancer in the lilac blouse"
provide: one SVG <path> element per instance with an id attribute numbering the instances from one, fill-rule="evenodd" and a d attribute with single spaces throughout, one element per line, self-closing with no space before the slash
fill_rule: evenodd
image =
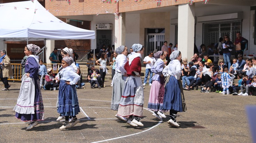
<path id="1" fill-rule="evenodd" d="M 164 100 L 164 78 L 160 77 L 160 81 L 154 80 L 149 92 L 148 109 L 153 111 L 167 112 L 163 108 Z"/>

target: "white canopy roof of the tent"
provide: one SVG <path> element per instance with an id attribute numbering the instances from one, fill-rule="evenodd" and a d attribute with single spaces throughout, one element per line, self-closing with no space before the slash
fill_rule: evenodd
<path id="1" fill-rule="evenodd" d="M 56 18 L 37 0 L 0 4 L 0 41 L 95 39 L 95 31 Z"/>

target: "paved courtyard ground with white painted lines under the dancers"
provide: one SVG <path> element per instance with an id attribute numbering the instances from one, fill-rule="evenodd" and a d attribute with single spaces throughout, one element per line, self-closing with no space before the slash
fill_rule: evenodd
<path id="1" fill-rule="evenodd" d="M 201 93 L 199 90 L 184 91 L 187 111 L 178 113 L 180 128 L 171 127 L 167 121 L 157 120 L 147 110 L 150 87 L 145 86 L 143 127 L 132 127 L 115 118 L 117 111 L 110 110 L 110 81 L 106 87 L 78 89 L 81 112 L 80 123 L 64 131 L 64 123 L 56 122 L 58 90 L 42 90 L 45 120 L 26 131 L 26 123 L 14 117 L 13 107 L 20 91 L 19 82 L 9 82 L 10 91 L 0 91 L 0 142 L 1 143 L 249 143 L 246 105 L 256 103 L 255 96 L 232 96 L 220 93 Z M 1 86 L 3 89 L 3 86 Z M 169 115 L 169 113 L 165 113 Z"/>

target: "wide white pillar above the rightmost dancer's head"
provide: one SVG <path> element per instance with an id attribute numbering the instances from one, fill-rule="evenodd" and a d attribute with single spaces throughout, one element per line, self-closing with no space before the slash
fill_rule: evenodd
<path id="1" fill-rule="evenodd" d="M 178 8 L 178 50 L 190 61 L 194 55 L 195 4 L 179 5 Z"/>

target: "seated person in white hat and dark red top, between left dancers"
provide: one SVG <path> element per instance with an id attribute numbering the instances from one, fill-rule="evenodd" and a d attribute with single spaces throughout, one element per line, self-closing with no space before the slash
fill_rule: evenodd
<path id="1" fill-rule="evenodd" d="M 57 81 L 57 82 L 56 82 Z M 45 90 L 53 90 L 54 87 L 59 87 L 60 81 L 58 81 L 53 75 L 53 69 L 47 69 L 47 74 L 45 75 Z"/>

